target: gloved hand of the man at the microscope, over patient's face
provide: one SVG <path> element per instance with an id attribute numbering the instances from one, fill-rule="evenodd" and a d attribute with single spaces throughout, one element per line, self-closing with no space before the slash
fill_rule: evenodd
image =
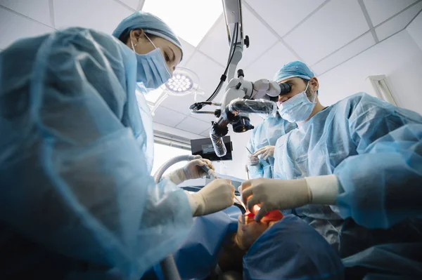
<path id="1" fill-rule="evenodd" d="M 290 209 L 309 204 L 312 192 L 305 179 L 277 180 L 260 178 L 242 183 L 242 199 L 251 213 L 253 206 L 259 204 L 255 215 L 258 222 L 266 213 L 275 209 Z"/>

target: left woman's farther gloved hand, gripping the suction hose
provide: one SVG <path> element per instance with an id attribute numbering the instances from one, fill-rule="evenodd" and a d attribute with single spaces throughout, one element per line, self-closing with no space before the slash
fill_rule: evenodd
<path id="1" fill-rule="evenodd" d="M 176 169 L 175 171 L 172 171 L 168 175 L 165 175 L 165 178 L 169 178 L 174 182 L 174 184 L 179 185 L 181 182 L 184 182 L 186 180 L 190 179 L 198 179 L 202 178 L 203 176 L 207 175 L 207 173 L 200 168 L 200 166 L 207 166 L 210 168 L 210 175 L 214 175 L 214 166 L 212 165 L 212 162 L 208 159 L 203 159 L 201 156 L 195 156 L 196 159 L 193 159 L 186 164 L 186 166 Z"/>

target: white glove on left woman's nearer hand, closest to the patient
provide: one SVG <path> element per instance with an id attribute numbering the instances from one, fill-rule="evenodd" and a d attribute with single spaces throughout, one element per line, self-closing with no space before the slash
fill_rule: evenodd
<path id="1" fill-rule="evenodd" d="M 228 179 L 216 179 L 199 192 L 188 195 L 193 217 L 215 213 L 234 204 L 234 186 Z"/>

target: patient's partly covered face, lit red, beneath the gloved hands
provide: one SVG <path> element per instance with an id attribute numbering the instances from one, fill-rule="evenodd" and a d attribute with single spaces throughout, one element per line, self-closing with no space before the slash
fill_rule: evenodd
<path id="1" fill-rule="evenodd" d="M 255 222 L 255 215 L 252 213 L 245 213 L 238 217 L 238 231 L 236 234 L 235 242 L 239 248 L 248 250 L 250 246 L 267 230 L 274 222 L 281 220 L 283 215 L 280 211 L 270 211 L 262 218 L 261 222 Z"/>

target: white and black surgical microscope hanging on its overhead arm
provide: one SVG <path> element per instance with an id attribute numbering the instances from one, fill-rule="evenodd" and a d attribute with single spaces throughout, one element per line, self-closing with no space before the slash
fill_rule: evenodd
<path id="1" fill-rule="evenodd" d="M 243 47 L 248 48 L 250 41 L 248 36 L 243 39 L 241 0 L 223 0 L 223 8 L 230 45 L 226 69 L 214 93 L 205 102 L 196 102 L 190 107 L 192 114 L 214 114 L 216 116 L 210 129 L 210 138 L 215 153 L 219 157 L 225 156 L 227 152 L 223 137 L 229 133 L 229 124 L 235 133 L 253 129 L 249 114 L 275 116 L 278 96 L 286 95 L 291 90 L 290 84 L 277 84 L 276 81 L 267 79 L 255 82 L 246 81 L 243 79 L 245 75 L 242 69 L 238 69 L 237 78 L 234 77 L 238 62 L 242 58 Z M 222 102 L 212 102 L 227 78 L 229 78 L 229 84 L 226 86 Z M 215 111 L 200 111 L 205 105 L 215 105 L 220 108 Z"/>

